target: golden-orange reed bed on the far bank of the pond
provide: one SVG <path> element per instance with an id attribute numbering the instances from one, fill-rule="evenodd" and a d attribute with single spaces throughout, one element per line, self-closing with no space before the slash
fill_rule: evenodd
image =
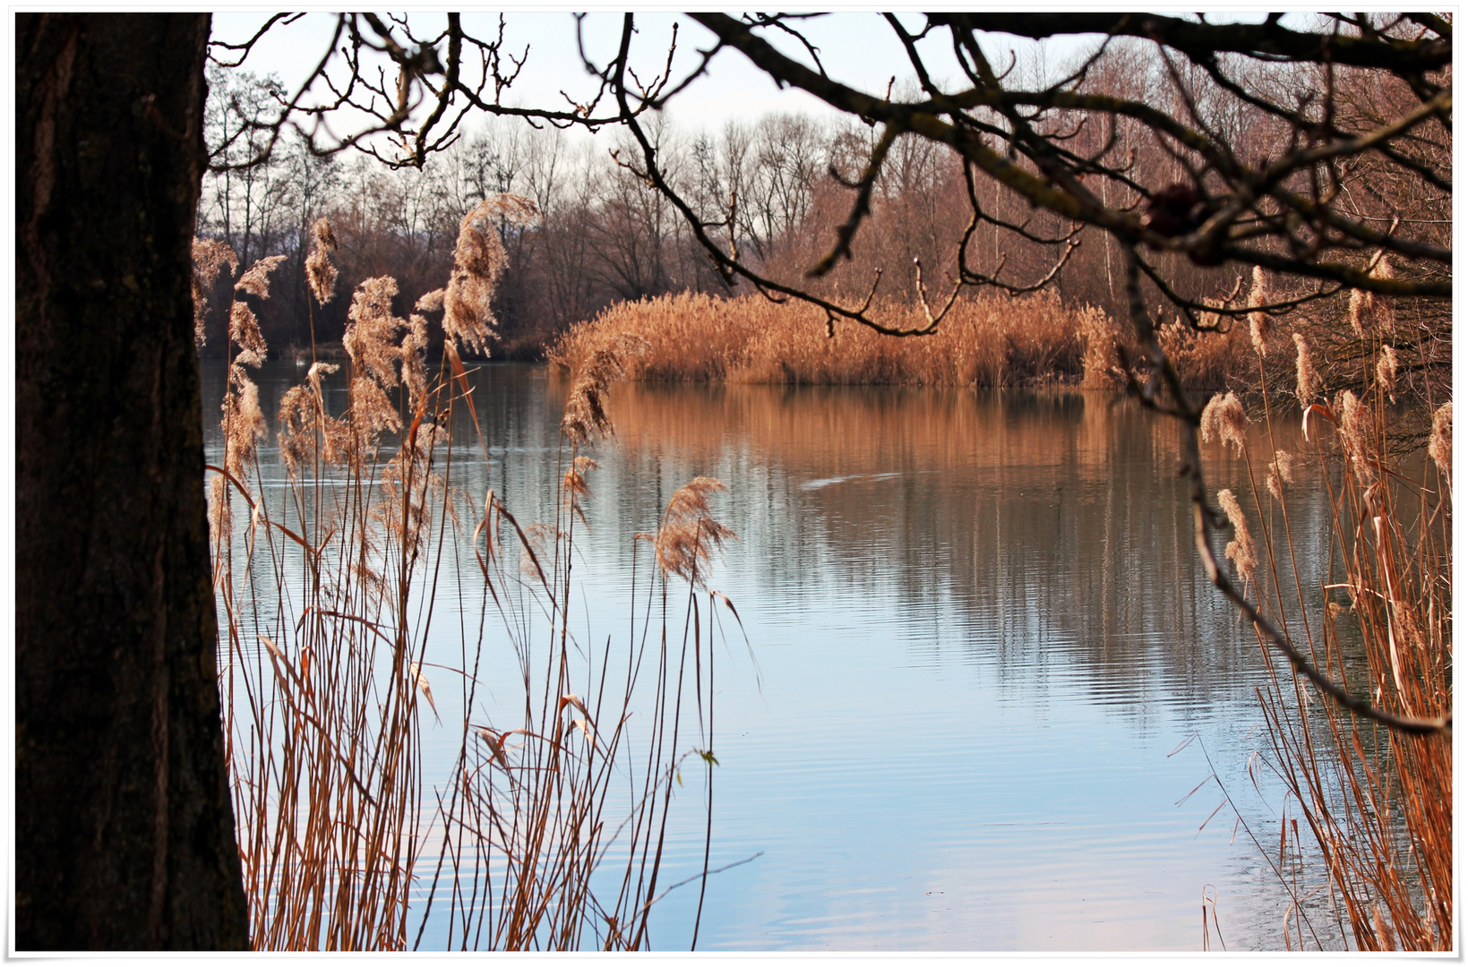
<path id="1" fill-rule="evenodd" d="M 891 324 L 923 324 L 919 307 L 876 310 Z M 617 340 L 646 346 L 627 379 L 727 383 L 1114 387 L 1119 355 L 1136 357 L 1124 329 L 1095 307 L 1053 292 L 963 298 L 925 337 L 893 339 L 854 323 L 826 329 L 825 313 L 750 295 L 666 295 L 619 302 L 574 326 L 546 355 L 564 370 Z M 1164 340 L 1189 386 L 1223 386 L 1248 373 L 1246 333 L 1173 326 Z"/>

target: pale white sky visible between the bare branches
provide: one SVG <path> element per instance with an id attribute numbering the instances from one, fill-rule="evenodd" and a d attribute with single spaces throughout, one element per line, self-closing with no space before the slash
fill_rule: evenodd
<path id="1" fill-rule="evenodd" d="M 214 38 L 239 43 L 247 40 L 269 15 L 260 12 L 225 12 L 214 15 Z M 918 26 L 922 16 L 898 13 L 909 25 Z M 442 16 L 414 13 L 415 29 L 421 23 L 423 34 L 442 28 Z M 493 37 L 498 23 L 493 13 L 465 13 L 464 26 L 477 37 Z M 675 75 L 683 78 L 697 63 L 697 50 L 712 44 L 713 35 L 693 21 L 678 13 L 639 13 L 639 35 L 633 45 L 633 63 L 639 76 L 656 73 L 666 57 L 672 28 L 678 26 L 678 54 Z M 244 69 L 257 75 L 276 73 L 288 88 L 294 90 L 305 73 L 320 59 L 330 40 L 335 15 L 308 13 L 289 26 L 276 25 L 255 47 Z M 584 22 L 587 53 L 597 65 L 615 53 L 621 31 L 621 13 L 592 12 Z M 884 94 L 895 79 L 912 81 L 912 69 L 900 43 L 891 29 L 875 13 L 840 12 L 824 15 L 806 22 L 806 32 L 818 47 L 826 72 L 851 87 L 871 94 Z M 793 38 L 766 32 L 766 38 L 791 56 L 800 56 L 809 63 L 809 56 Z M 530 54 L 521 76 L 505 95 L 511 106 L 555 106 L 564 107 L 562 91 L 573 98 L 586 100 L 595 91 L 595 79 L 589 78 L 577 53 L 575 21 L 571 13 L 511 12 L 505 15 L 505 47 L 517 54 L 528 45 Z M 1020 59 L 1038 53 L 1051 66 L 1070 60 L 1082 47 L 1076 41 L 1054 40 L 1035 44 L 1028 40 L 1010 38 L 1011 43 L 992 44 L 989 51 L 995 63 L 1007 63 L 1009 51 L 1014 48 Z M 1089 44 L 1085 44 L 1089 47 Z M 923 41 L 919 45 L 931 56 L 931 69 L 940 84 L 956 79 L 959 69 L 951 51 L 941 38 Z M 731 119 L 757 117 L 771 112 L 799 112 L 812 114 L 834 114 L 835 112 L 818 98 L 799 90 L 778 90 L 775 84 L 734 50 L 719 53 L 711 65 L 708 76 L 694 81 L 674 98 L 668 114 L 681 126 L 716 131 Z"/>

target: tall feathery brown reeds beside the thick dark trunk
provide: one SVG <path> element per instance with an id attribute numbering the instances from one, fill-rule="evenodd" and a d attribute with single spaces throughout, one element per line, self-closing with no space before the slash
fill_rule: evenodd
<path id="1" fill-rule="evenodd" d="M 705 594 L 703 575 L 733 537 L 709 511 L 722 484 L 691 481 L 656 534 L 630 536 L 650 546 L 618 624 L 627 638 L 593 647 L 573 632 L 571 562 L 596 468 L 586 450 L 611 431 L 605 389 L 618 354 L 578 371 L 552 521 L 521 524 L 493 492 L 455 483 L 457 417 L 467 409 L 479 427 L 458 348 L 492 333 L 504 266 L 490 219 L 524 217 L 526 204 L 499 197 L 468 213 L 449 285 L 408 320 L 393 315 L 390 277 L 363 282 L 344 340 L 345 409 L 333 412 L 323 390 L 338 367 L 320 361 L 282 398 L 283 484 L 258 452 L 270 431 L 250 368 L 264 340 L 247 301 L 230 308 L 225 455 L 208 490 L 255 949 L 398 951 L 424 936 L 449 949 L 643 949 L 668 889 L 672 782 L 690 757 L 706 765 L 712 809 L 721 596 Z M 321 302 L 335 295 L 330 233 L 313 235 Z M 236 269 L 232 252 L 195 252 L 203 273 Z M 241 274 L 236 296 L 269 298 L 277 261 Z M 435 313 L 445 330 L 436 373 L 423 352 Z M 445 654 L 454 625 L 457 654 Z M 517 669 L 493 681 L 493 703 L 483 678 L 492 635 Z M 443 728 L 457 754 L 429 775 L 424 729 L 452 707 Z"/>

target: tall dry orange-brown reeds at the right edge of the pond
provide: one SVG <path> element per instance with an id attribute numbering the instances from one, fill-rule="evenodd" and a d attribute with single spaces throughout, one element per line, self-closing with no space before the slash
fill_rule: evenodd
<path id="1" fill-rule="evenodd" d="M 1271 453 L 1261 459 L 1242 446 L 1246 414 L 1232 393 L 1216 398 L 1204 417 L 1205 436 L 1239 440 L 1249 459 L 1251 492 L 1218 493 L 1235 531 L 1227 556 L 1261 609 L 1334 681 L 1389 713 L 1450 716 L 1452 405 L 1436 408 L 1425 453 L 1393 456 L 1393 355 L 1378 352 L 1367 396 L 1345 390 L 1327 399 L 1308 340 L 1296 336 L 1295 343 L 1298 399 L 1260 396 L 1257 417 Z M 1262 361 L 1260 370 L 1262 382 Z M 1307 443 L 1292 458 L 1273 443 L 1293 436 L 1301 412 Z M 1292 527 L 1301 456 L 1318 468 L 1331 511 L 1331 569 L 1311 593 L 1293 566 L 1296 541 L 1320 540 L 1318 521 Z M 1254 527 L 1262 531 L 1258 543 Z M 1323 607 L 1307 605 L 1320 600 L 1315 591 Z M 1260 690 L 1268 732 L 1262 762 L 1287 800 L 1277 842 L 1262 847 L 1292 898 L 1286 945 L 1318 946 L 1337 936 L 1355 949 L 1450 949 L 1450 732 L 1389 728 L 1324 700 L 1287 666 L 1271 663 L 1270 672 Z"/>

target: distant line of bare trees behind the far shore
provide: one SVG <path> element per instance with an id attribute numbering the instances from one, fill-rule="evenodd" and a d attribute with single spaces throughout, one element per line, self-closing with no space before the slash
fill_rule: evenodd
<path id="1" fill-rule="evenodd" d="M 1016 66 L 1026 69 L 1041 67 L 1023 62 Z M 1277 69 L 1258 70 L 1258 84 L 1289 81 Z M 252 112 L 264 116 L 275 82 L 225 69 L 214 69 L 210 81 L 210 145 L 216 148 L 216 161 L 238 161 L 254 150 L 245 122 Z M 1342 79 L 1343 87 L 1352 82 L 1353 78 Z M 1284 120 L 1239 110 L 1236 101 L 1230 101 L 1229 110 L 1207 100 L 1183 103 L 1167 78 L 1167 66 L 1142 44 L 1114 44 L 1091 69 L 1086 85 L 1179 116 L 1196 113 L 1201 123 L 1221 132 L 1238 157 L 1262 157 L 1264 145 L 1289 135 Z M 1376 101 L 1386 95 L 1362 88 L 1342 98 L 1356 116 L 1337 117 L 1336 123 L 1370 129 L 1380 113 Z M 1126 120 L 1105 128 L 1079 112 L 1070 120 L 1066 150 L 1113 164 L 1123 158 L 1139 189 L 1155 192 L 1188 179 L 1182 161 L 1145 129 L 1129 129 Z M 1006 122 L 995 116 L 995 123 Z M 881 269 L 875 298 L 916 304 L 920 264 L 923 295 L 938 305 L 951 291 L 959 239 L 967 232 L 970 269 L 1025 286 L 1063 261 L 1045 286 L 1063 305 L 1095 307 L 1111 318 L 1126 315 L 1122 258 L 1108 236 L 1089 229 L 1073 233 L 1069 223 L 1029 210 L 989 179 L 966 179 L 962 163 L 942 145 L 897 138 L 872 194 L 872 216 L 856 236 L 853 257 L 813 283 L 806 270 L 829 249 L 837 227 L 849 217 L 854 197 L 849 185 L 859 178 L 876 129 L 793 114 L 752 117 L 716 132 L 668 122 L 656 122 L 652 129 L 675 189 L 709 223 L 711 235 L 721 242 L 733 235 L 740 255 L 771 277 L 807 288 L 816 285 L 825 295 L 860 302 Z M 526 195 L 542 213 L 537 225 L 502 226 L 508 271 L 495 296 L 501 332 L 495 355 L 537 357 L 574 323 L 595 318 L 617 302 L 683 292 L 749 295 L 749 285 L 731 289 L 713 271 L 669 201 L 618 163 L 618 154 L 639 157 L 636 145 L 627 139 L 618 142 L 615 134 L 609 136 L 611 141 L 573 142 L 558 131 L 487 119 L 423 170 L 389 170 L 361 156 L 320 160 L 286 141 L 269 163 L 206 178 L 198 232 L 228 241 L 247 266 L 261 255 L 286 255 L 273 277 L 273 298 L 258 310 L 264 337 L 276 351 L 308 345 L 313 321 L 317 342 L 341 339 L 351 291 L 367 277 L 396 277 L 399 313 L 405 314 L 421 293 L 445 283 L 459 219 L 493 192 Z M 1450 145 L 1424 144 L 1421 160 L 1450 170 Z M 1384 225 L 1396 217 L 1442 222 L 1447 238 L 1450 213 L 1374 179 L 1370 166 L 1371 158 L 1365 157 L 1355 182 L 1342 186 L 1352 192 L 1358 214 Z M 1108 179 L 1098 179 L 1097 191 L 1114 191 L 1107 185 Z M 978 219 L 972 214 L 970 192 L 981 211 Z M 1133 201 L 1141 204 L 1142 195 L 1135 194 Z M 1104 201 L 1126 204 L 1127 200 Z M 317 308 L 307 305 L 302 271 L 308 229 L 321 216 L 330 219 L 341 242 L 336 252 L 341 282 L 338 298 Z M 972 226 L 970 219 L 975 219 Z M 1072 239 L 1079 248 L 1063 260 Z M 1236 269 L 1195 266 L 1171 254 L 1152 257 L 1163 277 L 1189 296 L 1220 301 L 1232 296 L 1230 304 L 1239 307 L 1249 298 L 1276 301 L 1302 293 L 1277 292 L 1268 280 L 1261 291 L 1255 280 L 1240 279 Z M 1154 291 L 1154 296 L 1163 308 L 1161 292 Z M 228 299 L 214 304 L 228 305 Z M 1439 343 L 1450 333 L 1450 315 L 1434 307 L 1408 308 L 1417 326 L 1411 339 L 1405 332 L 1398 333 L 1398 345 L 1406 348 L 1403 343 L 1411 342 L 1422 349 L 1412 354 L 1418 371 L 1442 371 L 1447 357 Z M 314 320 L 308 311 L 314 311 Z M 1349 343 L 1359 332 L 1353 324 L 1356 311 L 1348 307 L 1343 292 L 1331 301 L 1312 302 L 1308 318 L 1296 314 L 1280 321 L 1320 329 L 1318 340 L 1331 345 L 1333 358 L 1339 357 L 1343 371 L 1351 373 L 1361 368 L 1355 357 L 1368 349 L 1365 339 L 1361 354 L 1342 345 L 1342 339 Z M 1176 314 L 1164 310 L 1163 317 L 1169 321 Z M 219 351 L 223 332 L 223 313 L 216 310 L 206 354 Z"/>

